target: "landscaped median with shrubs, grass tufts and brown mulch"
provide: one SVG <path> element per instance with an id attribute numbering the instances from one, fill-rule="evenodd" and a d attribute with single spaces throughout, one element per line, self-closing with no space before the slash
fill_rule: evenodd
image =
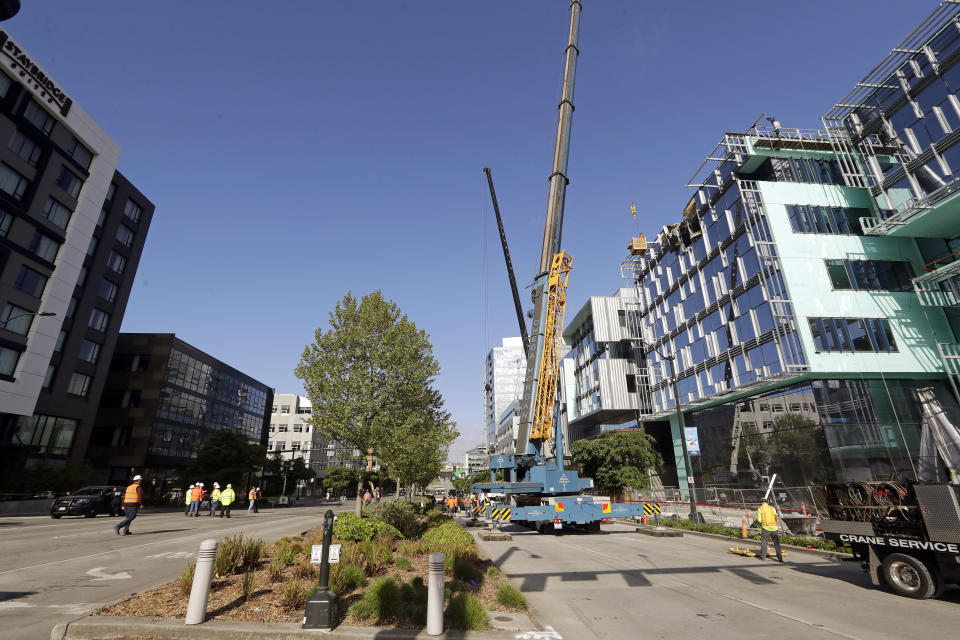
<path id="1" fill-rule="evenodd" d="M 487 631 L 499 626 L 497 618 L 512 621 L 516 631 L 539 628 L 526 612 L 523 594 L 479 555 L 473 537 L 463 527 L 437 510 L 421 514 L 409 503 L 386 502 L 367 509 L 362 518 L 340 514 L 333 534 L 334 544 L 342 545 L 339 563 L 330 566 L 330 590 L 337 594 L 337 631 L 363 635 L 364 629 L 406 629 L 410 633 L 404 637 L 415 637 L 416 630 L 426 626 L 426 579 L 433 552 L 446 557 L 445 629 Z M 227 621 L 258 627 L 298 625 L 307 600 L 317 589 L 319 565 L 310 564 L 310 549 L 321 544 L 322 538 L 323 530 L 317 527 L 269 545 L 242 535 L 221 540 L 207 623 L 194 628 L 226 630 L 230 626 Z M 97 620 L 85 626 L 105 626 L 101 618 L 123 616 L 141 621 L 172 619 L 186 632 L 189 627 L 183 627 L 182 619 L 192 581 L 191 564 L 177 580 L 98 610 L 94 614 Z M 211 621 L 218 624 L 211 625 Z M 164 633 L 158 629 L 154 635 L 167 637 Z"/>

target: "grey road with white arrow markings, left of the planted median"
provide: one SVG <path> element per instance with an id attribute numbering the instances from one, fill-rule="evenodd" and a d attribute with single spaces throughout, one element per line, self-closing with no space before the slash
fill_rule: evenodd
<path id="1" fill-rule="evenodd" d="M 244 507 L 230 519 L 148 510 L 130 536 L 117 536 L 120 519 L 107 516 L 0 518 L 0 637 L 48 638 L 58 623 L 176 578 L 202 540 L 243 533 L 272 542 L 319 526 L 327 508 Z"/>

